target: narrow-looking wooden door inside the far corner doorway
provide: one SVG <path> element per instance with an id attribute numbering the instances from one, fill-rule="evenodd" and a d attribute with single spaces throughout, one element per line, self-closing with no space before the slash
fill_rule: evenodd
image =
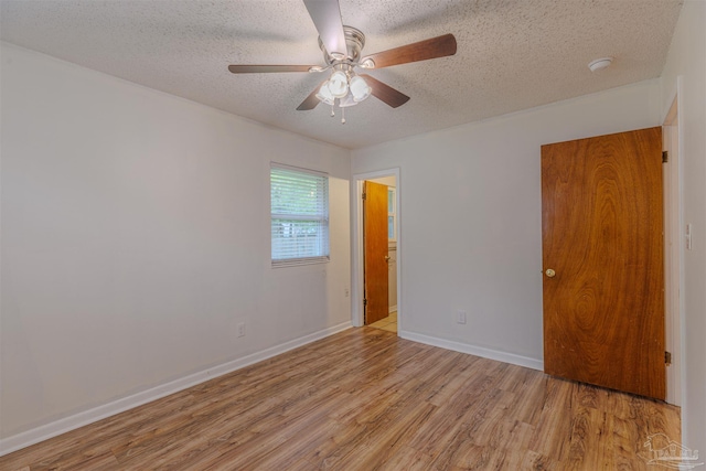
<path id="1" fill-rule="evenodd" d="M 387 301 L 387 186 L 364 182 L 363 242 L 365 250 L 365 323 L 385 319 Z"/>

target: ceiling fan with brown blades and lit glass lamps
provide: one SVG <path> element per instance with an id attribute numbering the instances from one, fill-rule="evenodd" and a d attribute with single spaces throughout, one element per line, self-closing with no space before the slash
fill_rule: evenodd
<path id="1" fill-rule="evenodd" d="M 331 71 L 331 75 L 297 107 L 309 110 L 319 101 L 331 106 L 331 116 L 338 104 L 345 122 L 345 108 L 373 95 L 393 108 L 404 105 L 409 97 L 367 74 L 356 74 L 356 68 L 373 69 L 410 62 L 427 61 L 456 54 L 456 38 L 445 34 L 362 56 L 365 35 L 357 29 L 343 25 L 339 0 L 303 0 L 309 15 L 319 32 L 319 47 L 325 66 L 320 65 L 229 65 L 234 74 Z"/>

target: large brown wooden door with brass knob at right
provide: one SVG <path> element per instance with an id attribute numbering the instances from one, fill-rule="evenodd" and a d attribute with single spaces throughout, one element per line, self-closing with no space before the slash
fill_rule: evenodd
<path id="1" fill-rule="evenodd" d="M 662 205 L 661 128 L 542 147 L 547 374 L 664 399 Z"/>

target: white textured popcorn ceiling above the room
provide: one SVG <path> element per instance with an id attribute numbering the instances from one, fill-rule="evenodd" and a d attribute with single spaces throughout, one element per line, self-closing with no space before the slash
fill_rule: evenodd
<path id="1" fill-rule="evenodd" d="M 345 125 L 297 106 L 320 74 L 228 64 L 323 64 L 298 0 L 0 0 L 0 38 L 345 148 L 360 148 L 659 77 L 682 0 L 340 0 L 363 55 L 445 33 L 450 57 L 371 71 L 411 99 L 374 97 Z M 613 56 L 591 73 L 587 64 Z M 339 111 L 340 114 L 340 111 Z"/>

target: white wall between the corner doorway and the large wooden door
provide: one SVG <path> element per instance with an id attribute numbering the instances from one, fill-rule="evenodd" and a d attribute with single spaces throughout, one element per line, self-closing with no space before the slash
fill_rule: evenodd
<path id="1" fill-rule="evenodd" d="M 539 147 L 659 118 L 655 79 L 353 151 L 353 174 L 400 168 L 400 334 L 542 367 Z"/>

